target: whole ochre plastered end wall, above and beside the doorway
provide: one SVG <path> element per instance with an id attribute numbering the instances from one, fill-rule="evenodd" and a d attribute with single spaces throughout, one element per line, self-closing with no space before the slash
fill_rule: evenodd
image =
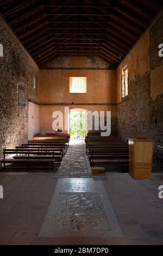
<path id="1" fill-rule="evenodd" d="M 73 58 L 71 59 L 72 62 Z M 83 66 L 83 62 L 76 65 Z M 79 66 L 79 68 L 80 68 Z M 71 94 L 69 78 L 86 77 L 84 94 Z M 111 111 L 112 133 L 116 132 L 116 71 L 115 70 L 40 70 L 39 103 L 40 132 L 53 132 L 52 114 L 64 107 L 83 108 L 87 111 Z M 73 103 L 72 103 L 73 102 Z M 56 105 L 58 103 L 58 105 Z M 62 105 L 61 105 L 62 104 Z M 95 104 L 95 105 L 93 105 Z"/>

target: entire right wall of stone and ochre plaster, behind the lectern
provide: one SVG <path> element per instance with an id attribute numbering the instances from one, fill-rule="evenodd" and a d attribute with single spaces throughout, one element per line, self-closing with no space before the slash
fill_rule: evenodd
<path id="1" fill-rule="evenodd" d="M 158 45 L 163 43 L 162 17 L 163 13 L 117 69 L 119 99 L 121 70 L 123 66 L 128 65 L 128 96 L 123 99 L 121 97 L 117 108 L 118 135 L 126 141 L 127 138 L 133 137 L 133 131 L 137 130 L 149 132 L 155 145 L 163 144 L 163 57 L 158 55 Z M 149 37 L 146 44 L 143 41 L 145 37 Z M 141 55 L 143 49 L 144 55 Z M 144 61 L 145 65 L 142 65 Z M 133 62 L 139 66 L 138 71 L 136 68 L 132 69 Z"/>

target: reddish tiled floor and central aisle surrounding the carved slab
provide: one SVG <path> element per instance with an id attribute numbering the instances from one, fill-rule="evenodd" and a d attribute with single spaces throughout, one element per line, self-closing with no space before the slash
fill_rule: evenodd
<path id="1" fill-rule="evenodd" d="M 73 239 L 39 236 L 54 200 L 58 178 L 65 177 L 102 182 L 123 236 L 92 237 L 89 234 Z M 85 148 L 80 142 L 70 146 L 58 173 L 0 173 L 0 185 L 4 187 L 4 199 L 0 199 L 2 245 L 163 245 L 163 199 L 158 197 L 158 187 L 163 185 L 163 169 L 148 180 L 134 180 L 127 173 L 116 172 L 91 177 Z"/>

